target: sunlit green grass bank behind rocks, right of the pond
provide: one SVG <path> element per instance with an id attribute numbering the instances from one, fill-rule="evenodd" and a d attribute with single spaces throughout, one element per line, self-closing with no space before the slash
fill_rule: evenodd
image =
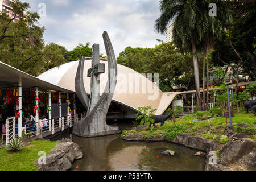
<path id="1" fill-rule="evenodd" d="M 151 128 L 146 129 L 146 131 L 123 131 L 121 137 L 129 133 L 143 133 L 144 137 L 147 135 L 166 135 L 168 140 L 175 139 L 176 135 L 179 133 L 185 133 L 189 135 L 199 135 L 200 137 L 220 140 L 221 136 L 224 135 L 224 130 L 227 126 L 230 126 L 229 119 L 228 125 L 226 125 L 226 118 L 215 117 L 214 119 L 208 119 L 205 121 L 193 121 L 197 119 L 196 115 L 185 115 L 184 117 L 176 119 L 176 127 L 174 122 L 168 120 L 161 127 L 160 123 L 156 124 L 156 128 L 151 126 Z M 246 127 L 234 126 L 236 132 L 245 133 L 249 135 L 250 138 L 256 140 L 256 116 L 249 113 L 236 113 L 235 117 L 232 118 L 233 126 L 241 123 L 245 123 Z M 225 136 L 224 136 L 225 137 Z M 220 141 L 220 143 L 225 144 L 227 140 Z"/>

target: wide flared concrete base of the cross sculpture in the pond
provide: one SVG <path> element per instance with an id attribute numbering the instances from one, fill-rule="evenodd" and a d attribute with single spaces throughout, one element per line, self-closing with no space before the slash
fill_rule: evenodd
<path id="1" fill-rule="evenodd" d="M 72 134 L 79 137 L 102 137 L 106 135 L 114 135 L 118 134 L 121 131 L 118 126 L 107 125 L 105 121 L 101 122 L 105 126 L 98 127 L 99 125 L 95 125 L 95 123 L 87 123 L 82 121 L 77 121 L 73 123 L 73 131 Z"/>

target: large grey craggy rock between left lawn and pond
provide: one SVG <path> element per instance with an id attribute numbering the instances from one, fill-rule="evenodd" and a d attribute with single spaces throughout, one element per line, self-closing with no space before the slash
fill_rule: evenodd
<path id="1" fill-rule="evenodd" d="M 82 158 L 82 150 L 78 144 L 71 140 L 61 140 L 46 156 L 46 163 L 40 164 L 39 159 L 35 161 L 39 171 L 67 171 L 71 169 L 75 159 Z"/>

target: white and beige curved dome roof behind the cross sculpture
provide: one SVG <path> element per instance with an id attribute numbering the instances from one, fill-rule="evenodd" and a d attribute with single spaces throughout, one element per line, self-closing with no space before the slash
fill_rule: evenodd
<path id="1" fill-rule="evenodd" d="M 105 64 L 106 70 L 105 73 L 100 75 L 102 94 L 106 81 L 108 81 L 108 63 L 102 59 L 100 63 Z M 63 64 L 60 67 L 44 72 L 38 78 L 75 92 L 75 77 L 78 64 L 79 61 Z M 86 93 L 90 93 L 90 78 L 87 77 L 87 71 L 91 65 L 91 60 L 85 60 L 84 86 Z M 176 96 L 176 94 L 172 93 L 163 93 L 158 86 L 133 69 L 118 64 L 117 71 L 117 86 L 113 100 L 134 110 L 139 107 L 151 106 L 152 109 L 157 110 L 155 114 L 162 114 Z M 136 82 L 138 84 L 135 86 Z"/>

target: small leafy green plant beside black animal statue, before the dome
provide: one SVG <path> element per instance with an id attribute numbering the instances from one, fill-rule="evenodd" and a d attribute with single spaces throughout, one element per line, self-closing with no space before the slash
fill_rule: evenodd
<path id="1" fill-rule="evenodd" d="M 136 111 L 137 116 L 136 121 L 140 121 L 140 125 L 147 125 L 149 126 L 150 123 L 154 123 L 155 120 L 151 117 L 154 116 L 156 109 L 152 109 L 152 107 L 139 107 L 139 109 Z"/>

